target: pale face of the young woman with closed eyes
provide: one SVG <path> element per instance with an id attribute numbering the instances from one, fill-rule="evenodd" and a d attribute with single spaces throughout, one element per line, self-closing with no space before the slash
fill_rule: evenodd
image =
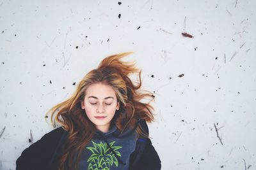
<path id="1" fill-rule="evenodd" d="M 115 90 L 102 83 L 95 83 L 86 89 L 81 106 L 91 122 L 102 132 L 109 131 L 111 120 L 116 110 L 119 110 Z"/>

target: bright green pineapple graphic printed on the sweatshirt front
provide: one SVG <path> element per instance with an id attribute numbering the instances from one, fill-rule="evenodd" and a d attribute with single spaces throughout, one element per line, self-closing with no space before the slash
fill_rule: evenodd
<path id="1" fill-rule="evenodd" d="M 110 167 L 115 164 L 118 167 L 118 160 L 116 155 L 121 157 L 120 152 L 116 151 L 122 148 L 122 146 L 113 146 L 115 141 L 109 143 L 113 152 L 110 150 L 107 143 L 95 143 L 93 142 L 94 147 L 87 147 L 88 150 L 92 152 L 92 155 L 89 157 L 87 162 L 89 162 L 88 170 L 110 170 Z"/>

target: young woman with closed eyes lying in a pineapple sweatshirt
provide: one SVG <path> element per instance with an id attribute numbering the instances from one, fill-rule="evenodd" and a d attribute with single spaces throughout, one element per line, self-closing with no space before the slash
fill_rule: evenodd
<path id="1" fill-rule="evenodd" d="M 146 123 L 154 120 L 154 109 L 141 101 L 154 97 L 141 92 L 141 71 L 120 60 L 126 55 L 106 57 L 69 99 L 47 112 L 52 125 L 60 127 L 26 148 L 17 170 L 161 169 Z M 129 78 L 133 73 L 137 83 Z"/>

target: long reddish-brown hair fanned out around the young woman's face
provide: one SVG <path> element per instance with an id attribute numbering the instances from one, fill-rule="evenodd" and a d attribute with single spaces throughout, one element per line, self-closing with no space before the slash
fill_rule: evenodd
<path id="1" fill-rule="evenodd" d="M 77 168 L 84 147 L 92 140 L 97 130 L 81 108 L 86 89 L 93 83 L 104 83 L 115 90 L 116 98 L 120 102 L 120 110 L 116 110 L 111 124 L 115 124 L 119 131 L 122 132 L 128 127 L 134 128 L 138 119 L 154 121 L 154 108 L 150 105 L 154 96 L 151 92 L 140 89 L 141 70 L 135 66 L 135 62 L 120 60 L 130 53 L 119 53 L 103 59 L 97 69 L 93 69 L 83 77 L 71 97 L 47 111 L 46 117 L 51 118 L 52 125 L 55 127 L 59 124 L 68 132 L 58 162 L 59 170 Z M 131 81 L 130 74 L 138 74 L 138 80 Z M 149 101 L 143 103 L 142 99 Z M 140 126 L 136 131 L 143 134 Z"/>

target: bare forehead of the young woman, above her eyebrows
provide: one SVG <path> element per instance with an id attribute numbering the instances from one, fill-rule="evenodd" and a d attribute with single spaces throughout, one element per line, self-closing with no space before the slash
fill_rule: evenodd
<path id="1" fill-rule="evenodd" d="M 90 85 L 85 92 L 85 97 L 94 96 L 99 99 L 104 99 L 105 97 L 116 96 L 115 90 L 110 85 L 105 85 L 103 83 L 94 83 Z"/>

